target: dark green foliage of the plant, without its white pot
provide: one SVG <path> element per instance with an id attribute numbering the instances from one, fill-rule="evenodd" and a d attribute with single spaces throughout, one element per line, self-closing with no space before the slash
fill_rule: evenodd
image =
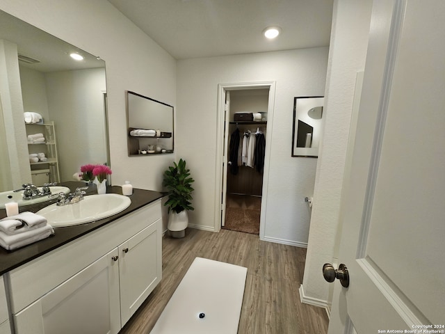
<path id="1" fill-rule="evenodd" d="M 190 176 L 190 170 L 186 168 L 186 161 L 179 159 L 178 164 L 173 162 L 174 166 L 168 167 L 164 172 L 163 186 L 168 189 L 168 200 L 165 206 L 168 206 L 168 212 L 175 210 L 177 214 L 183 210 L 193 210 L 191 193 L 193 190 L 191 184 L 195 182 Z"/>

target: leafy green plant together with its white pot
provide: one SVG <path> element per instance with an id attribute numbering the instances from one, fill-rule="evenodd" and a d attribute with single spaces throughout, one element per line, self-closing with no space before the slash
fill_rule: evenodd
<path id="1" fill-rule="evenodd" d="M 191 186 L 195 180 L 190 176 L 190 170 L 186 168 L 186 161 L 179 159 L 178 164 L 169 166 L 163 175 L 163 186 L 168 190 L 168 230 L 172 237 L 184 237 L 188 225 L 188 210 L 193 210 L 191 206 L 191 196 L 194 190 Z"/>

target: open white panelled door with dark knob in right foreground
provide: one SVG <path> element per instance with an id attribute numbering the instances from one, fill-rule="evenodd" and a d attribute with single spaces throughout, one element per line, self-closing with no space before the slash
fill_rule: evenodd
<path id="1" fill-rule="evenodd" d="M 443 0 L 374 3 L 330 334 L 445 331 L 444 22 Z"/>

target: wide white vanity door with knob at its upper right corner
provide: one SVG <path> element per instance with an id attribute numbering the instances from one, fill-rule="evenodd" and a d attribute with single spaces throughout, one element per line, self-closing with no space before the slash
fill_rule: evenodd
<path id="1" fill-rule="evenodd" d="M 118 249 L 14 315 L 17 334 L 120 331 Z"/>

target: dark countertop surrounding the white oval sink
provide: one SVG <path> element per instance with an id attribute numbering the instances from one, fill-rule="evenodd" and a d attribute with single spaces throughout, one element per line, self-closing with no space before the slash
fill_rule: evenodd
<path id="1" fill-rule="evenodd" d="M 85 186 L 86 184 L 83 182 L 62 182 L 59 184 L 60 186 L 67 186 L 74 191 L 77 187 Z M 106 189 L 107 193 L 118 193 L 122 195 L 122 188 L 120 186 L 108 186 Z M 96 186 L 91 185 L 86 191 L 87 195 L 92 195 L 97 193 Z M 111 217 L 100 219 L 98 221 L 92 221 L 90 223 L 84 223 L 81 225 L 74 225 L 65 228 L 54 228 L 54 235 L 51 235 L 47 239 L 43 239 L 35 242 L 34 244 L 30 244 L 28 246 L 24 246 L 22 248 L 18 248 L 15 250 L 6 250 L 0 247 L 0 275 L 15 269 L 26 262 L 34 260 L 35 258 L 49 253 L 51 250 L 54 250 L 68 242 L 77 239 L 89 232 L 97 230 L 102 226 L 115 221 L 130 212 L 133 212 L 144 205 L 147 205 L 159 198 L 164 196 L 163 193 L 159 193 L 157 191 L 143 190 L 143 189 L 134 189 L 133 195 L 129 196 L 131 199 L 131 204 L 124 211 L 119 212 Z M 19 212 L 30 211 L 30 212 L 38 212 L 42 207 L 46 207 L 52 203 L 56 202 L 56 199 L 51 200 L 49 202 L 39 203 L 36 205 L 29 205 L 26 207 L 19 207 Z M 0 218 L 6 217 L 6 210 L 0 209 Z"/>

